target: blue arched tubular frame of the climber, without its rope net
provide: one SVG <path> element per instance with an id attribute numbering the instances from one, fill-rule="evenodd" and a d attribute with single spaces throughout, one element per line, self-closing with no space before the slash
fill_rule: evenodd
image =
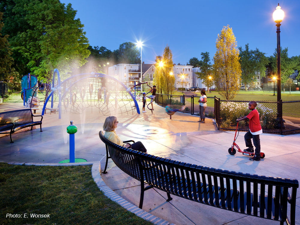
<path id="1" fill-rule="evenodd" d="M 54 82 L 55 82 L 55 74 L 57 74 L 57 79 L 58 79 L 58 83 L 57 85 L 55 86 L 54 85 Z M 69 81 L 70 79 L 73 79 L 75 77 L 78 77 L 78 76 L 82 76 L 82 75 L 87 75 L 79 80 L 76 80 L 74 83 L 72 83 L 69 87 L 71 87 L 72 85 L 74 85 L 76 82 L 82 80 L 82 79 L 86 79 L 86 78 L 98 78 L 98 77 L 106 77 L 106 78 L 109 78 L 109 79 L 112 79 L 116 82 L 118 82 L 120 85 L 122 85 L 126 91 L 129 93 L 129 95 L 131 96 L 132 100 L 134 101 L 134 104 L 136 105 L 136 109 L 137 109 L 137 113 L 140 114 L 140 108 L 137 104 L 137 100 L 134 98 L 134 95 L 131 93 L 130 91 L 130 88 L 126 87 L 125 84 L 123 84 L 121 81 L 119 81 L 118 79 L 112 77 L 112 76 L 109 76 L 107 74 L 103 74 L 103 73 L 95 73 L 95 72 L 91 72 L 91 73 L 80 73 L 80 74 L 77 74 L 77 75 L 74 75 L 74 76 L 71 76 L 67 79 L 65 79 L 64 81 L 60 81 L 60 75 L 59 75 L 59 71 L 58 69 L 54 69 L 54 73 L 53 73 L 53 79 L 52 79 L 52 88 L 51 88 L 51 93 L 48 95 L 48 97 L 46 98 L 46 101 L 45 101 L 45 104 L 44 104 L 44 107 L 43 107 L 43 111 L 42 111 L 42 115 L 44 115 L 44 112 L 45 112 L 45 109 L 46 109 L 46 105 L 51 97 L 51 108 L 53 107 L 53 96 L 54 96 L 54 92 L 55 91 L 58 91 L 58 119 L 61 119 L 61 99 L 64 98 L 64 96 L 67 94 L 67 92 L 69 91 L 68 88 L 66 88 L 66 90 L 64 91 L 63 95 L 61 95 L 61 85 L 64 85 L 64 83 L 67 83 L 67 81 Z M 89 76 L 88 76 L 89 75 Z"/>

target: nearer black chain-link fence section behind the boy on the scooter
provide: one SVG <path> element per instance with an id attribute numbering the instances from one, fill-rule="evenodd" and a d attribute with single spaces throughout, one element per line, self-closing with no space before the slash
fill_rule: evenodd
<path id="1" fill-rule="evenodd" d="M 249 101 L 225 101 L 214 98 L 214 111 L 219 130 L 235 130 L 236 119 L 249 114 Z M 257 101 L 260 124 L 264 133 L 287 134 L 300 131 L 300 101 Z M 249 121 L 239 122 L 240 131 L 249 130 Z"/>

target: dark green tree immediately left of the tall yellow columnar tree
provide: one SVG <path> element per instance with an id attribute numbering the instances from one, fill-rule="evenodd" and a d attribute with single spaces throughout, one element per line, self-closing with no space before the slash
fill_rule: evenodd
<path id="1" fill-rule="evenodd" d="M 209 52 L 201 52 L 201 65 L 199 72 L 196 72 L 196 77 L 202 79 L 202 84 L 205 84 L 208 88 L 212 85 L 211 69 L 212 65 L 209 58 Z"/>

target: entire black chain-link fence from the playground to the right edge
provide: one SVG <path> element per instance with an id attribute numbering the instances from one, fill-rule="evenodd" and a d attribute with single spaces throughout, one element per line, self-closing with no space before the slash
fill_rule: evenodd
<path id="1" fill-rule="evenodd" d="M 184 113 L 199 115 L 198 100 L 201 96 L 156 94 L 155 103 L 166 107 L 182 107 Z M 207 97 L 205 116 L 214 118 L 218 130 L 235 130 L 236 119 L 249 114 L 249 101 L 226 101 L 216 97 Z M 264 133 L 288 134 L 300 132 L 300 101 L 257 101 L 260 124 Z M 240 131 L 249 130 L 249 121 L 239 122 Z"/>

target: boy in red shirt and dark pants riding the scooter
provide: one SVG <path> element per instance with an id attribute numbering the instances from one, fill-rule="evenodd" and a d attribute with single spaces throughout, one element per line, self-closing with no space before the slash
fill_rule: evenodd
<path id="1" fill-rule="evenodd" d="M 259 113 L 255 109 L 257 106 L 257 103 L 255 101 L 249 102 L 248 109 L 251 110 L 251 112 L 248 114 L 248 116 L 241 116 L 236 121 L 242 121 L 249 119 L 249 131 L 245 134 L 245 143 L 247 149 L 244 149 L 245 152 L 254 152 L 254 148 L 251 142 L 251 138 L 253 138 L 253 144 L 255 146 L 255 156 L 250 158 L 252 161 L 260 161 L 260 139 L 259 134 L 262 134 L 262 127 L 259 122 Z"/>

